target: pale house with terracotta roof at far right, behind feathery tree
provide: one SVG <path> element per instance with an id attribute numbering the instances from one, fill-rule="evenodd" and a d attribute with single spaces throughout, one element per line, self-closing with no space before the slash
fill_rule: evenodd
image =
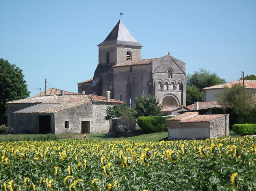
<path id="1" fill-rule="evenodd" d="M 232 87 L 234 84 L 243 85 L 243 80 L 236 80 L 234 82 L 228 82 L 225 84 L 213 85 L 203 88 L 202 90 L 204 91 L 205 96 L 204 100 L 206 102 L 218 101 L 216 95 L 222 94 L 224 87 Z M 256 93 L 256 80 L 244 80 L 244 85 L 248 91 Z"/>

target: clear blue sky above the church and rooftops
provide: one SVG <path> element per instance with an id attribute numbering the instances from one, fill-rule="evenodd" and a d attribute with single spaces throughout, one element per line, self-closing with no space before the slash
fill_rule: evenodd
<path id="1" fill-rule="evenodd" d="M 142 59 L 169 51 L 187 73 L 204 68 L 228 82 L 256 74 L 255 0 L 0 0 L 0 58 L 23 70 L 31 96 L 44 78 L 77 92 L 119 11 Z"/>

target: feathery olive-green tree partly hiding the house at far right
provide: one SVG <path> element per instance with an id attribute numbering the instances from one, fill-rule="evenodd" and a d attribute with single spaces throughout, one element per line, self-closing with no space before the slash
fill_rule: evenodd
<path id="1" fill-rule="evenodd" d="M 234 84 L 232 87 L 224 87 L 222 94 L 217 94 L 218 102 L 226 111 L 232 108 L 232 113 L 238 118 L 239 123 L 256 122 L 256 104 L 253 95 L 245 86 Z"/>

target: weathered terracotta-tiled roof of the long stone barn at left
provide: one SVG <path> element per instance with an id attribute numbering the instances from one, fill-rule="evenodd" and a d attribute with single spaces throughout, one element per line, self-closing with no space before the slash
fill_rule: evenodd
<path id="1" fill-rule="evenodd" d="M 53 104 L 49 107 L 35 106 L 33 108 L 26 108 L 24 113 L 56 113 L 61 110 L 68 109 L 70 107 L 78 106 L 87 102 L 104 102 L 104 103 L 118 103 L 124 104 L 120 100 L 110 99 L 106 100 L 103 96 L 96 96 L 91 94 L 80 94 L 80 95 L 50 95 L 50 96 L 39 96 L 32 98 L 25 98 L 21 100 L 14 100 L 7 102 L 7 104 L 24 104 L 24 103 L 38 103 L 38 104 Z M 40 108 L 39 108 L 40 107 Z M 38 110 L 36 110 L 36 108 Z M 19 110 L 19 113 L 22 111 Z"/>

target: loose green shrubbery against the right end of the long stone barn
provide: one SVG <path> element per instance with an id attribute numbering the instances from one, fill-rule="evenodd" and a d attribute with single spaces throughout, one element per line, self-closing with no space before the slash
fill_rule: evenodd
<path id="1" fill-rule="evenodd" d="M 125 106 L 124 104 L 117 104 L 114 106 L 109 106 L 106 109 L 107 115 L 104 117 L 105 120 L 109 120 L 115 117 L 121 117 L 125 120 L 130 120 L 136 115 L 134 108 Z"/>

